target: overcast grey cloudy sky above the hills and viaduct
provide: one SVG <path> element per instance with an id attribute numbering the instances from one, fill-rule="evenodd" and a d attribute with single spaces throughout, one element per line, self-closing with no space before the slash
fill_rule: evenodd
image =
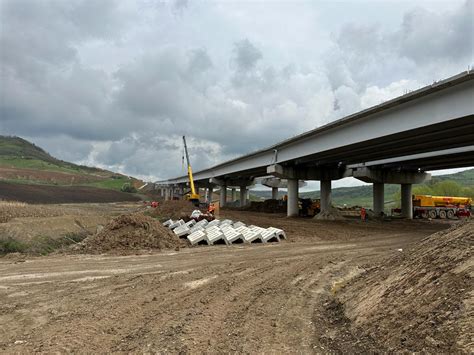
<path id="1" fill-rule="evenodd" d="M 473 0 L 0 0 L 0 134 L 146 178 L 464 71 Z"/>

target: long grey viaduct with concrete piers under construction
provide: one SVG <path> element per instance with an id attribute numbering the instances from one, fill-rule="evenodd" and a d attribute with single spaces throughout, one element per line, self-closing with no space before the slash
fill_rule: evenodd
<path id="1" fill-rule="evenodd" d="M 288 216 L 298 214 L 303 180 L 321 182 L 321 210 L 331 207 L 331 182 L 354 177 L 373 184 L 375 214 L 383 212 L 384 184 L 401 185 L 402 214 L 412 218 L 412 184 L 431 176 L 426 171 L 474 165 L 474 73 L 467 71 L 435 82 L 378 106 L 287 139 L 271 147 L 194 173 L 197 186 L 240 188 L 240 203 L 258 177 L 287 181 Z M 158 181 L 170 197 L 183 191 L 187 176 Z M 277 179 L 278 180 L 278 179 Z M 280 183 L 265 180 L 273 187 Z M 264 183 L 265 183 L 264 182 Z M 209 195 L 209 192 L 208 192 Z"/>

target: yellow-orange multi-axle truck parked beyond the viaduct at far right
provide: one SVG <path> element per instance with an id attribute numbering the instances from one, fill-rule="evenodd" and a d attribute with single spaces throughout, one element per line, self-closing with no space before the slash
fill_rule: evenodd
<path id="1" fill-rule="evenodd" d="M 472 198 L 413 195 L 413 217 L 449 218 L 471 215 Z"/>

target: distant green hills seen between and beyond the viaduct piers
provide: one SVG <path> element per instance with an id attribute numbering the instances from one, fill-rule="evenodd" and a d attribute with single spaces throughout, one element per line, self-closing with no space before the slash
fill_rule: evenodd
<path id="1" fill-rule="evenodd" d="M 415 193 L 441 194 L 443 185 L 449 185 L 450 191 L 456 191 L 457 194 L 463 196 L 473 196 L 474 194 L 474 169 L 461 171 L 455 174 L 446 174 L 433 176 L 430 181 L 425 184 L 414 185 Z M 433 191 L 434 190 L 434 191 Z M 441 191 L 439 191 L 441 190 Z M 439 192 L 438 192 L 439 191 Z M 270 189 L 265 191 L 251 191 L 253 200 L 271 198 Z M 285 191 L 280 191 L 280 197 L 285 195 Z M 301 192 L 301 198 L 319 198 L 319 191 Z M 394 206 L 399 203 L 400 186 L 385 185 L 385 203 L 388 206 Z M 362 185 L 353 187 L 337 187 L 332 189 L 332 200 L 335 205 L 348 206 L 364 206 L 372 207 L 372 185 Z"/>

